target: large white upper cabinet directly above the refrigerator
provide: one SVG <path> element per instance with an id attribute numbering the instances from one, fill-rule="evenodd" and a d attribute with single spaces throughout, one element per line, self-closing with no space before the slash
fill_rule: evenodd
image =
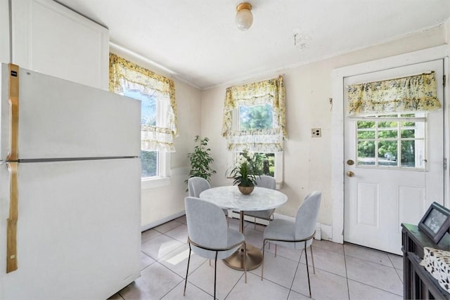
<path id="1" fill-rule="evenodd" d="M 51 0 L 11 1 L 12 63 L 108 90 L 108 29 Z"/>

